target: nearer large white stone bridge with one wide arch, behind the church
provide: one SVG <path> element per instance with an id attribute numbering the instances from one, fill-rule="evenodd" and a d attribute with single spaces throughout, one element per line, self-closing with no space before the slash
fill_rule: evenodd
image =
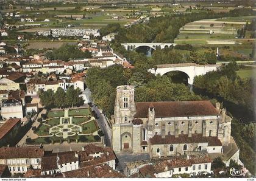
<path id="1" fill-rule="evenodd" d="M 194 77 L 197 75 L 204 75 L 207 72 L 217 70 L 220 65 L 199 65 L 195 63 L 180 63 L 180 64 L 161 64 L 157 65 L 155 69 L 149 69 L 149 72 L 155 75 L 164 75 L 172 71 L 184 72 L 188 75 L 188 84 L 193 85 Z"/>

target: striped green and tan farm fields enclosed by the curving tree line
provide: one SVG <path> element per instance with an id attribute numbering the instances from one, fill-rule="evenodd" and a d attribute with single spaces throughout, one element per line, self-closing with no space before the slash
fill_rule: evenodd
<path id="1" fill-rule="evenodd" d="M 247 31 L 244 38 L 236 38 L 237 30 L 241 29 L 246 21 L 255 16 L 240 16 L 235 18 L 202 19 L 186 24 L 174 40 L 177 44 L 252 44 L 251 32 Z"/>

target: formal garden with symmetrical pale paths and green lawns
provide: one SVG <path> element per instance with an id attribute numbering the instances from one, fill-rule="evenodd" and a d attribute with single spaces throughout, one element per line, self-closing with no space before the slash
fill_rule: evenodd
<path id="1" fill-rule="evenodd" d="M 101 141 L 99 126 L 90 108 L 51 110 L 42 114 L 38 121 L 38 128 L 32 128 L 38 137 L 27 138 L 28 145 Z"/>

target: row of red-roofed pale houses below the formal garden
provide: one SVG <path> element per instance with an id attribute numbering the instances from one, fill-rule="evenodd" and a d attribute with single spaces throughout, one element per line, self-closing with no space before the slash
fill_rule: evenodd
<path id="1" fill-rule="evenodd" d="M 112 148 L 93 144 L 82 146 L 80 151 L 67 152 L 44 151 L 39 146 L 1 147 L 0 165 L 8 166 L 12 175 L 52 177 L 62 174 L 62 177 L 71 177 L 80 172 L 80 169 L 105 165 L 115 172 L 116 156 Z M 90 174 L 84 172 L 82 177 L 88 177 Z"/>

